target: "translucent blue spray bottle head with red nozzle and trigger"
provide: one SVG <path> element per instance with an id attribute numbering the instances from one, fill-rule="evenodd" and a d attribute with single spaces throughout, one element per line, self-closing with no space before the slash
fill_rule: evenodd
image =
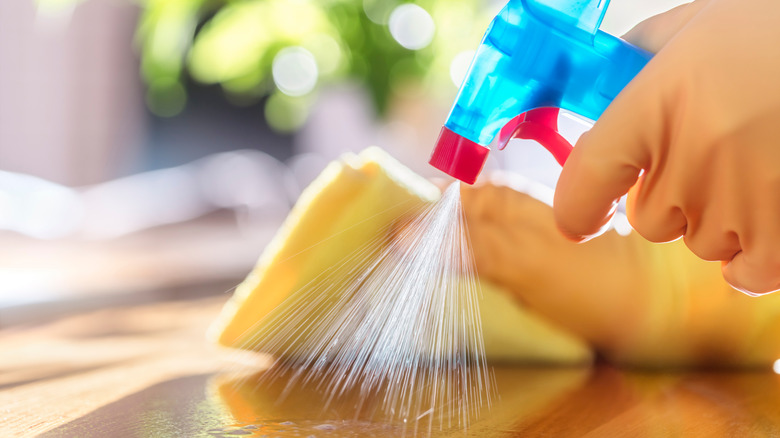
<path id="1" fill-rule="evenodd" d="M 609 0 L 510 0 L 485 32 L 430 164 L 473 184 L 498 136 L 564 164 L 560 109 L 595 121 L 652 54 L 599 30 Z"/>

